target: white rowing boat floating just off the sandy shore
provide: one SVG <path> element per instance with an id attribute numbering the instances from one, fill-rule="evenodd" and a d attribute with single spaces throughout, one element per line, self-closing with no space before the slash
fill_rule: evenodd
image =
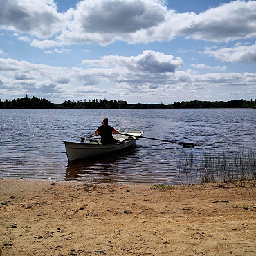
<path id="1" fill-rule="evenodd" d="M 143 134 L 143 131 L 126 131 L 122 135 L 115 134 L 113 135 L 113 138 L 116 138 L 118 143 L 107 145 L 102 145 L 100 143 L 100 138 L 79 143 L 64 141 L 66 147 L 66 156 L 68 156 L 69 161 L 73 161 L 80 158 L 89 158 L 116 152 L 134 145 L 136 140 L 138 140 L 136 136 L 139 137 L 141 134 Z"/>

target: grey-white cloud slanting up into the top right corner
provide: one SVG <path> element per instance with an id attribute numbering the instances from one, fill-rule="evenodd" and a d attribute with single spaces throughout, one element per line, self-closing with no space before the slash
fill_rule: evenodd
<path id="1" fill-rule="evenodd" d="M 256 1 L 232 1 L 199 15 L 190 14 L 179 33 L 194 39 L 223 42 L 256 36 Z"/>

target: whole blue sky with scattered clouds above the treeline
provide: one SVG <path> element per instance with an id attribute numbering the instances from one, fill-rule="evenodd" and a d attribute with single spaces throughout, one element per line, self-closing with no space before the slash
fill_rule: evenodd
<path id="1" fill-rule="evenodd" d="M 256 1 L 0 0 L 0 98 L 256 98 Z"/>

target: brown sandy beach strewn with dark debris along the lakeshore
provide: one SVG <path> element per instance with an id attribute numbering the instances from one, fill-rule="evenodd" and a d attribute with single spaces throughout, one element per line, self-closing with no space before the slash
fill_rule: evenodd
<path id="1" fill-rule="evenodd" d="M 255 255 L 255 181 L 0 179 L 0 255 Z"/>

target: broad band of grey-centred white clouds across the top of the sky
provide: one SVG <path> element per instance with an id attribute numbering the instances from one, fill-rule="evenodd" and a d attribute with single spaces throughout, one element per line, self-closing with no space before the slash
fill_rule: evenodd
<path id="1" fill-rule="evenodd" d="M 3 1 L 0 27 L 37 37 L 31 46 L 168 41 L 177 36 L 226 42 L 256 36 L 256 1 L 232 1 L 205 12 L 177 13 L 160 0 L 84 0 L 57 12 L 53 0 Z M 43 40 L 40 40 L 43 39 Z"/>

